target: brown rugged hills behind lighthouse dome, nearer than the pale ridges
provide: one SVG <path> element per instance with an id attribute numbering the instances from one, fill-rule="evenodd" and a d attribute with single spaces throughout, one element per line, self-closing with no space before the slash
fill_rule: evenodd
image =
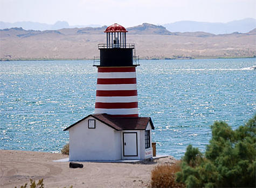
<path id="1" fill-rule="evenodd" d="M 64 35 L 81 35 L 81 34 L 96 34 L 103 35 L 107 26 L 102 27 L 83 27 L 83 28 L 61 28 L 60 30 L 24 30 L 22 27 L 13 27 L 13 28 L 5 28 L 0 30 L 0 37 L 4 38 L 29 38 L 33 36 L 39 35 L 40 37 L 47 37 L 49 34 L 56 35 L 56 37 L 64 36 Z M 213 37 L 217 36 L 216 34 L 206 33 L 206 32 L 170 32 L 165 27 L 143 23 L 142 25 L 128 27 L 126 28 L 129 32 L 129 35 L 176 35 L 183 37 Z M 222 35 L 232 35 L 232 34 L 246 34 L 246 35 L 255 35 L 256 28 L 247 33 L 239 33 L 233 32 L 230 34 L 222 34 Z M 46 35 L 47 34 L 47 35 Z M 221 34 L 220 34 L 221 35 Z"/>

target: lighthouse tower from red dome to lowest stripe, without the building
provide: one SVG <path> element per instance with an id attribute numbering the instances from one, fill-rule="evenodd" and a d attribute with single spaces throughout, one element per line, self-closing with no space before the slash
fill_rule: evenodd
<path id="1" fill-rule="evenodd" d="M 100 64 L 96 87 L 95 113 L 113 117 L 138 117 L 134 44 L 126 43 L 126 28 L 107 27 L 106 44 L 99 44 Z"/>

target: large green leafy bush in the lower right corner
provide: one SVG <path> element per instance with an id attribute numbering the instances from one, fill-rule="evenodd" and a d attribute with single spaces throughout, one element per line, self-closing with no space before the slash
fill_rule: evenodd
<path id="1" fill-rule="evenodd" d="M 255 187 L 256 114 L 236 130 L 215 122 L 205 155 L 187 147 L 176 181 L 186 187 Z"/>

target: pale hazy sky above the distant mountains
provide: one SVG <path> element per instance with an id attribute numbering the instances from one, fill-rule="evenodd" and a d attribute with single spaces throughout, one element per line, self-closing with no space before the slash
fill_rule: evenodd
<path id="1" fill-rule="evenodd" d="M 0 21 L 135 26 L 256 19 L 256 0 L 0 0 Z"/>

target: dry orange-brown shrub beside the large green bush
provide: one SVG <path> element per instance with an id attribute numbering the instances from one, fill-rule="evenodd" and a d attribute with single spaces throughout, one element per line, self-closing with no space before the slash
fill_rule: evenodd
<path id="1" fill-rule="evenodd" d="M 184 184 L 175 182 L 175 173 L 181 171 L 180 163 L 161 164 L 151 171 L 152 188 L 185 187 Z"/>

